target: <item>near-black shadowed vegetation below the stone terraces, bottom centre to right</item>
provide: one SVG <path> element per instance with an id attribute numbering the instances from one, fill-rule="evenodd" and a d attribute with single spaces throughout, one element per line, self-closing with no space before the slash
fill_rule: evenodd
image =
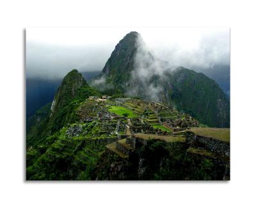
<path id="1" fill-rule="evenodd" d="M 221 180 L 223 166 L 212 159 L 191 157 L 185 147 L 150 140 L 129 159 L 105 153 L 97 163 L 99 180 Z"/>

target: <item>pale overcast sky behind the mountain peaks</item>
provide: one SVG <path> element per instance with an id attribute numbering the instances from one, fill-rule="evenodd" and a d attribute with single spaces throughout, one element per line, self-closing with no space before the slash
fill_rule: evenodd
<path id="1" fill-rule="evenodd" d="M 27 77 L 55 79 L 76 68 L 102 70 L 115 45 L 130 31 L 171 65 L 211 69 L 229 65 L 229 28 L 29 28 L 26 29 Z"/>

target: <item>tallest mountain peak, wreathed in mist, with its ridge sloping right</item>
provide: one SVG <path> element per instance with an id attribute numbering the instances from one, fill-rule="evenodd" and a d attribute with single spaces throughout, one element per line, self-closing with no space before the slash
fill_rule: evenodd
<path id="1" fill-rule="evenodd" d="M 94 84 L 101 91 L 105 84 L 114 92 L 165 102 L 211 127 L 230 125 L 229 102 L 218 84 L 202 73 L 157 60 L 137 32 L 120 40 Z"/>

